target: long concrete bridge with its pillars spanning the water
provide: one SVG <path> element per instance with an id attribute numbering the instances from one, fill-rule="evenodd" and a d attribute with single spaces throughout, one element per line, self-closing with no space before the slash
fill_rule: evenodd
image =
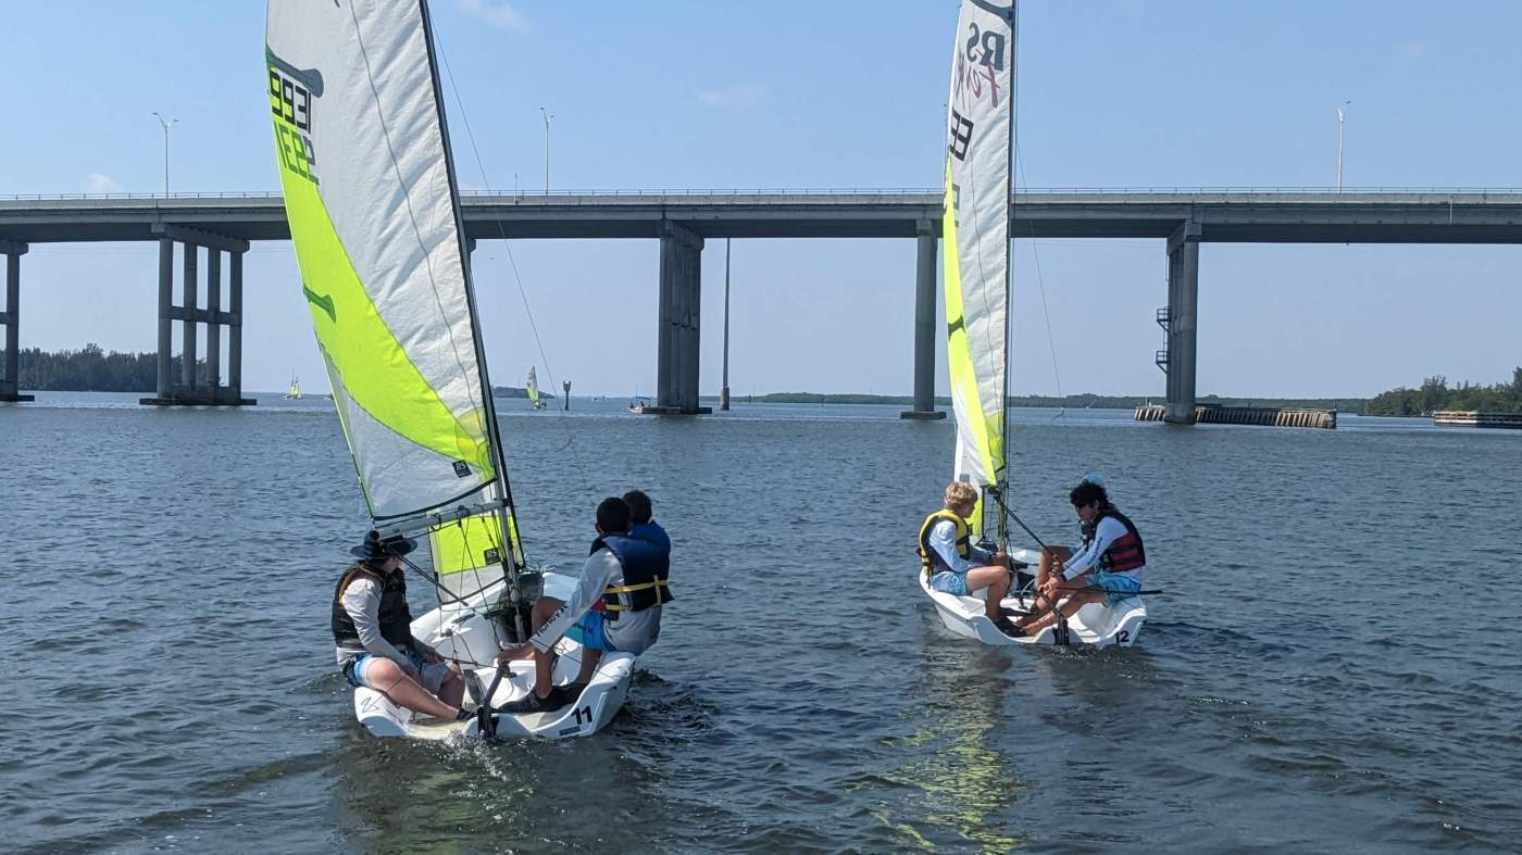
<path id="1" fill-rule="evenodd" d="M 913 237 L 915 408 L 933 414 L 938 190 L 691 190 L 466 195 L 466 233 L 513 237 L 638 237 L 661 240 L 656 405 L 696 412 L 699 393 L 699 259 L 712 237 Z M 1475 189 L 1199 189 L 1032 190 L 1014 198 L 1015 237 L 1151 237 L 1167 256 L 1167 304 L 1157 321 L 1166 348 L 1167 420 L 1195 418 L 1195 338 L 1199 245 L 1236 243 L 1522 243 L 1522 190 Z M 242 254 L 251 240 L 288 240 L 275 193 L 0 198 L 6 256 L 5 374 L 0 400 L 17 397 L 20 259 L 29 243 L 157 240 L 158 394 L 154 403 L 242 402 Z M 174 303 L 175 243 L 181 303 Z M 204 277 L 198 260 L 205 257 Z M 222 256 L 228 289 L 222 289 Z M 202 281 L 204 280 L 204 281 Z M 224 295 L 227 300 L 224 301 Z M 181 377 L 170 377 L 172 324 L 183 324 Z M 198 332 L 216 380 L 193 374 Z M 219 361 L 228 333 L 227 382 Z"/>

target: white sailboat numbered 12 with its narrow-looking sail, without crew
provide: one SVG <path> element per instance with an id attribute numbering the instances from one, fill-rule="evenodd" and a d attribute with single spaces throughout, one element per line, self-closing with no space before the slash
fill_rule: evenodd
<path id="1" fill-rule="evenodd" d="M 1009 219 L 1014 154 L 1014 0 L 962 0 L 951 59 L 951 97 L 945 163 L 947 367 L 956 411 L 954 476 L 983 490 L 973 514 L 982 534 L 983 517 L 997 517 L 997 543 L 1014 560 L 1035 566 L 1040 552 L 1011 549 L 1006 519 L 1009 470 Z M 986 499 L 992 499 L 991 502 Z M 919 587 L 935 604 L 941 622 L 960 636 L 989 645 L 1085 644 L 1129 647 L 1146 605 L 1132 596 L 1116 605 L 1093 604 L 1033 637 L 1012 637 L 988 619 L 985 590 L 957 596 Z M 1029 610 L 1018 593 L 1005 598 L 1008 609 Z"/>

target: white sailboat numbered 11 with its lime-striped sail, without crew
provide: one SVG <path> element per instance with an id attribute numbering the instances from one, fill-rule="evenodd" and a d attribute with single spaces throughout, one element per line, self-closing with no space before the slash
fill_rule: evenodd
<path id="1" fill-rule="evenodd" d="M 422 0 L 269 0 L 268 94 L 291 239 L 333 403 L 382 536 L 426 534 L 440 605 L 412 634 L 461 663 L 486 715 L 437 721 L 367 688 L 355 715 L 380 736 L 584 736 L 629 692 L 633 657 L 606 656 L 572 706 L 492 715 L 499 642 L 525 637 L 528 571 L 489 389 L 443 97 Z M 566 596 L 574 580 L 543 574 Z M 577 671 L 569 639 L 556 682 Z"/>

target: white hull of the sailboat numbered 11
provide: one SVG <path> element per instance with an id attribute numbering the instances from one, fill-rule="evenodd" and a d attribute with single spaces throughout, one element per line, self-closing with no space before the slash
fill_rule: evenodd
<path id="1" fill-rule="evenodd" d="M 545 590 L 551 596 L 563 599 L 575 580 L 560 574 L 545 574 Z M 486 589 L 472 596 L 467 604 L 479 607 L 492 602 L 499 593 L 499 586 Z M 493 657 L 496 656 L 498 634 L 487 618 L 458 604 L 446 604 L 412 621 L 412 634 L 440 653 L 440 656 L 461 662 L 461 669 L 467 679 L 473 680 L 482 691 L 489 688 L 496 675 Z M 556 662 L 552 682 L 556 685 L 569 683 L 581 668 L 581 645 L 571 639 L 560 639 L 556 645 L 559 660 Z M 525 715 L 498 714 L 496 738 L 519 739 L 568 739 L 574 736 L 591 736 L 606 727 L 624 700 L 629 698 L 629 685 L 635 672 L 635 656 L 629 653 L 609 653 L 603 656 L 592 680 L 581 691 L 575 703 L 552 712 L 537 712 Z M 533 662 L 514 662 L 510 675 L 504 675 L 492 695 L 493 707 L 516 701 L 525 697 L 534 685 Z M 440 721 L 414 714 L 409 709 L 394 704 L 390 698 L 370 688 L 355 689 L 355 718 L 374 736 L 406 736 L 414 739 L 449 739 L 454 736 L 479 736 L 479 723 L 475 718 L 467 721 Z"/>

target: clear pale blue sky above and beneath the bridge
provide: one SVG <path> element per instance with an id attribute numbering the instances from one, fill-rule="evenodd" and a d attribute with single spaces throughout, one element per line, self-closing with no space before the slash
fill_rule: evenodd
<path id="1" fill-rule="evenodd" d="M 466 187 L 543 186 L 540 105 L 554 114 L 554 189 L 939 183 L 950 0 L 432 11 L 461 99 L 447 108 Z M 0 46 L 20 72 L 0 193 L 160 190 L 152 111 L 180 119 L 175 190 L 277 189 L 263 3 L 27 3 L 5 23 Z M 1027 0 L 1021 24 L 1021 186 L 1327 187 L 1333 105 L 1352 100 L 1348 187 L 1522 187 L 1517 3 Z M 556 380 L 653 393 L 654 240 L 511 253 Z M 734 391 L 907 394 L 913 256 L 912 240 L 735 242 Z M 1160 240 L 1023 240 L 1015 257 L 1017 394 L 1161 394 Z M 721 242 L 703 265 L 702 376 L 715 393 Z M 1208 243 L 1199 391 L 1367 396 L 1434 373 L 1510 379 L 1522 364 L 1519 268 L 1513 246 Z M 33 245 L 23 345 L 152 350 L 155 271 L 149 245 Z M 493 380 L 521 383 L 531 364 L 546 380 L 501 243 L 476 251 L 476 277 Z M 321 389 L 289 245 L 256 245 L 245 291 L 245 388 L 300 373 Z"/>

